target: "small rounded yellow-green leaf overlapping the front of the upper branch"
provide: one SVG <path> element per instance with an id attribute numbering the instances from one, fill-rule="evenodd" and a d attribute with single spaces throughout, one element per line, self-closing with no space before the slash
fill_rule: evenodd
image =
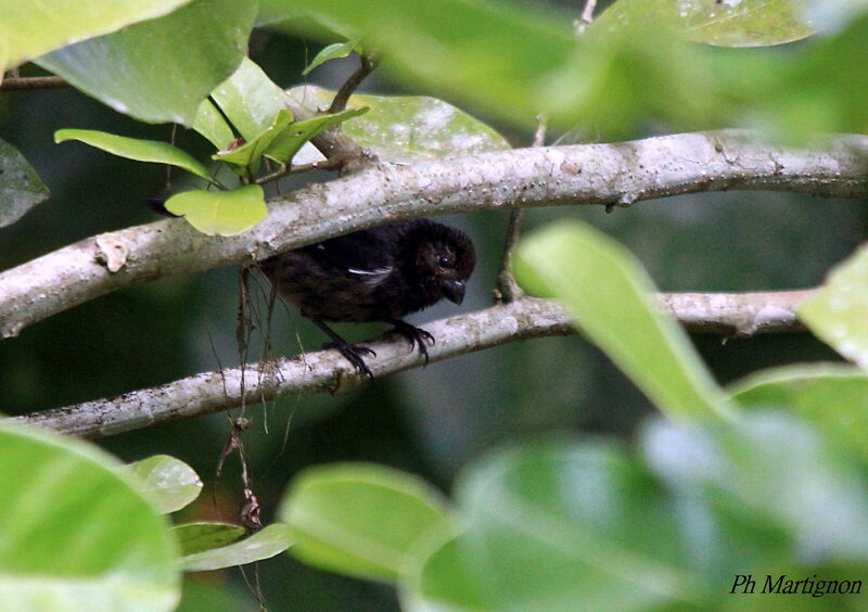
<path id="1" fill-rule="evenodd" d="M 263 188 L 246 184 L 232 191 L 184 191 L 166 201 L 166 209 L 183 216 L 191 226 L 208 235 L 235 235 L 268 215 Z"/>

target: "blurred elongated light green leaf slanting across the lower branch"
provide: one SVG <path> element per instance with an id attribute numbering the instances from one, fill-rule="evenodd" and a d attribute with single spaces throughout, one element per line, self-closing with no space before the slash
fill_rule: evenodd
<path id="1" fill-rule="evenodd" d="M 515 272 L 532 292 L 558 297 L 665 415 L 728 415 L 687 333 L 664 316 L 648 273 L 618 243 L 589 226 L 556 225 L 520 244 Z"/>

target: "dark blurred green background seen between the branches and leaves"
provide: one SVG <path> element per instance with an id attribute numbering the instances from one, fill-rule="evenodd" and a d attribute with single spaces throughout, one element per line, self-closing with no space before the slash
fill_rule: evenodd
<path id="1" fill-rule="evenodd" d="M 298 75 L 319 47 L 312 40 L 257 31 L 251 56 L 275 81 L 291 87 L 299 84 Z M 799 43 L 788 44 L 775 52 L 783 60 L 797 48 Z M 352 60 L 332 62 L 315 71 L 308 81 L 335 87 L 353 67 Z M 362 91 L 400 92 L 376 74 Z M 64 127 L 156 140 L 169 136 L 166 126 L 133 122 L 75 90 L 2 92 L 0 138 L 17 146 L 37 168 L 52 199 L 0 229 L 0 269 L 98 232 L 154 219 L 144 202 L 163 191 L 165 170 L 82 145 L 53 144 L 54 130 Z M 531 141 L 528 132 L 498 127 L 514 145 Z M 585 135 L 595 133 L 593 126 L 577 127 Z M 666 131 L 665 126 L 659 129 Z M 633 136 L 652 133 L 647 128 Z M 550 135 L 549 141 L 559 136 Z M 179 130 L 178 142 L 201 156 L 208 151 L 193 132 Z M 182 180 L 177 175 L 175 179 Z M 285 181 L 283 188 L 294 184 Z M 813 286 L 868 233 L 864 201 L 766 192 L 685 195 L 610 215 L 602 207 L 537 209 L 528 213 L 527 224 L 534 227 L 569 216 L 580 217 L 626 244 L 662 291 Z M 471 233 L 480 255 L 462 308 L 485 307 L 490 303 L 506 214 L 478 213 L 449 222 Z M 116 292 L 28 328 L 20 337 L 0 343 L 0 409 L 24 413 L 233 366 L 239 361 L 235 299 L 235 270 L 219 269 Z M 414 321 L 452 311 L 438 306 Z M 299 345 L 319 347 L 319 331 L 294 311 L 278 308 L 276 317 L 275 353 L 297 353 Z M 356 326 L 344 331 L 363 339 L 380 330 Z M 727 342 L 694 336 L 693 341 L 720 382 L 769 366 L 839 360 L 808 334 Z M 631 383 L 587 343 L 578 337 L 541 339 L 433 364 L 345 396 L 251 407 L 247 416 L 254 425 L 245 443 L 255 489 L 270 520 L 268 513 L 286 483 L 307 466 L 375 461 L 418 473 L 448 490 L 461 466 L 498 443 L 551 431 L 629 437 L 650 412 L 649 403 Z M 101 445 L 124 460 L 174 455 L 212 486 L 228 429 L 227 417 L 218 415 L 120 435 Z M 240 500 L 238 466 L 230 461 L 213 495 L 206 493 L 187 512 L 232 519 Z M 397 609 L 388 587 L 319 572 L 288 556 L 263 564 L 260 571 L 272 610 Z M 250 568 L 246 577 L 251 578 Z M 206 601 L 209 610 L 255 608 L 238 570 L 195 575 L 189 582 L 194 583 L 184 588 L 190 610 L 205 609 Z"/>

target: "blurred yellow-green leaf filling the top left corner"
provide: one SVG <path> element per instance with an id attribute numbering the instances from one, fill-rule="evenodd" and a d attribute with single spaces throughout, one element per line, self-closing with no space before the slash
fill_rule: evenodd
<path id="1" fill-rule="evenodd" d="M 0 0 L 0 73 L 65 44 L 170 13 L 190 0 Z M 5 66 L 5 67 L 4 67 Z"/>

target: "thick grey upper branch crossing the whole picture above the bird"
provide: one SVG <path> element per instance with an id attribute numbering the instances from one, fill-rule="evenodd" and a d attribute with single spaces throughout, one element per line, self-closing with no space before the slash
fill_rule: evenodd
<path id="1" fill-rule="evenodd" d="M 169 275 L 261 259 L 378 222 L 514 206 L 629 205 L 679 193 L 782 190 L 868 194 L 868 137 L 814 151 L 758 144 L 742 132 L 520 149 L 380 164 L 270 202 L 268 219 L 232 238 L 182 219 L 100 234 L 0 273 L 0 336 L 111 291 Z"/>

